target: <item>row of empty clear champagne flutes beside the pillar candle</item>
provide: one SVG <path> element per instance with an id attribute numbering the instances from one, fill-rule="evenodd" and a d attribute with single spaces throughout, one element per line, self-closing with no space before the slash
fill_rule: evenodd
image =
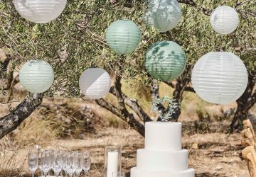
<path id="1" fill-rule="evenodd" d="M 34 176 L 36 169 L 40 169 L 44 176 L 52 169 L 55 176 L 65 171 L 66 176 L 80 176 L 90 170 L 90 152 L 64 152 L 64 151 L 41 151 L 28 153 L 28 168 Z"/>

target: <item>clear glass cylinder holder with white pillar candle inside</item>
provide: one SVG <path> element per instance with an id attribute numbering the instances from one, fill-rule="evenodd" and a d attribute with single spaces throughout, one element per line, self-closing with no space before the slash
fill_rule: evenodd
<path id="1" fill-rule="evenodd" d="M 112 177 L 113 173 L 121 170 L 121 147 L 105 147 L 104 177 Z"/>

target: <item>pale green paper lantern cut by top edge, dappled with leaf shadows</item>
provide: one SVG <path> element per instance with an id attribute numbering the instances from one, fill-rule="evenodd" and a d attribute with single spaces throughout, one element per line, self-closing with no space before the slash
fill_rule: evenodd
<path id="1" fill-rule="evenodd" d="M 142 18 L 148 25 L 166 32 L 178 25 L 181 7 L 176 0 L 149 1 L 149 11 Z"/>

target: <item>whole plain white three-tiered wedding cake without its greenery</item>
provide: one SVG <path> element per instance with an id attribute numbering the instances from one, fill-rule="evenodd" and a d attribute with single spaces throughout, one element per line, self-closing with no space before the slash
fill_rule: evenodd
<path id="1" fill-rule="evenodd" d="M 137 150 L 131 177 L 194 177 L 188 150 L 181 149 L 180 122 L 146 122 L 145 149 Z"/>

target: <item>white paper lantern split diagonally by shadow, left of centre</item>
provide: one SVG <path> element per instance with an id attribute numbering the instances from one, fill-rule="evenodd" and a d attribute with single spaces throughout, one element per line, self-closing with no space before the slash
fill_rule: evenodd
<path id="1" fill-rule="evenodd" d="M 102 98 L 110 91 L 110 74 L 101 68 L 86 69 L 80 76 L 79 86 L 85 96 L 92 99 Z"/>

